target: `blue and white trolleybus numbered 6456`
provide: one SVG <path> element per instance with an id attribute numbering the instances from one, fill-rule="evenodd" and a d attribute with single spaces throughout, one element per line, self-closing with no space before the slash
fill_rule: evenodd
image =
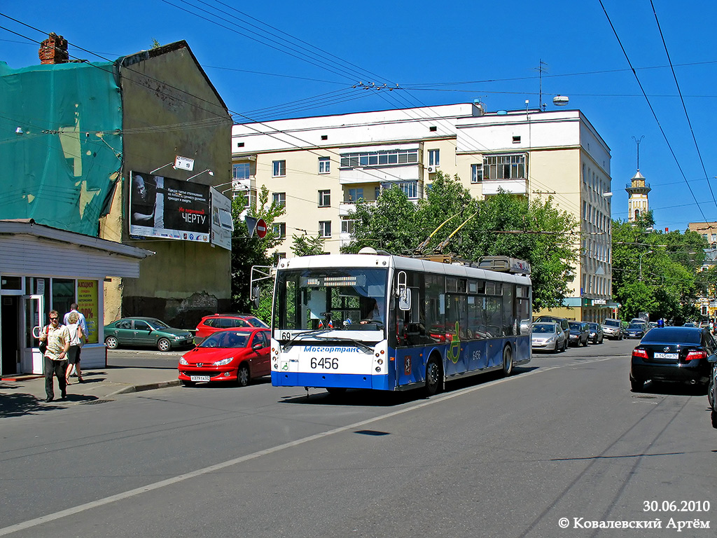
<path id="1" fill-rule="evenodd" d="M 271 377 L 280 387 L 406 390 L 531 359 L 526 262 L 376 253 L 280 260 Z"/>

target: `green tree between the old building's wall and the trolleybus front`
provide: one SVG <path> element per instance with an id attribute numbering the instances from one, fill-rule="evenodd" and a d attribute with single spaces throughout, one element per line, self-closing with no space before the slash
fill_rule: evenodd
<path id="1" fill-rule="evenodd" d="M 271 317 L 272 280 L 262 280 L 260 284 L 260 305 L 253 306 L 250 291 L 251 270 L 253 265 L 271 265 L 268 252 L 282 241 L 272 224 L 277 217 L 285 213 L 281 204 L 269 204 L 269 190 L 262 186 L 258 200 L 247 210 L 250 217 L 263 219 L 267 223 L 267 235 L 260 239 L 256 234 L 249 237 L 246 222 L 241 218 L 244 212 L 244 199 L 232 201 L 234 232 L 232 234 L 232 306 L 239 312 L 251 311 L 264 321 Z"/>

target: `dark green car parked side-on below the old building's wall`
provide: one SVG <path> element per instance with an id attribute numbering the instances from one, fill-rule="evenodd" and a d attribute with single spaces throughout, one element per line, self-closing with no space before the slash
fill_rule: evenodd
<path id="1" fill-rule="evenodd" d="M 121 318 L 105 325 L 108 349 L 119 346 L 149 346 L 159 351 L 194 345 L 194 335 L 184 329 L 172 329 L 157 318 Z"/>

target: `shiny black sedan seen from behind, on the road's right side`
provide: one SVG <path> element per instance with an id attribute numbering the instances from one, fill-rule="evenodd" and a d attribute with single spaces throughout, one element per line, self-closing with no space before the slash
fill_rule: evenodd
<path id="1" fill-rule="evenodd" d="M 699 327 L 651 329 L 632 350 L 630 385 L 639 392 L 645 381 L 685 383 L 707 388 L 717 344 Z"/>

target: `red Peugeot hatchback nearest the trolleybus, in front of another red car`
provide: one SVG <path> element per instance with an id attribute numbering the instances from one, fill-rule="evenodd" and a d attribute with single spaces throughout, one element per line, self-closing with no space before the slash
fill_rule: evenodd
<path id="1" fill-rule="evenodd" d="M 251 379 L 271 373 L 269 351 L 269 329 L 223 329 L 179 359 L 179 380 L 186 387 L 214 381 L 245 387 Z"/>

